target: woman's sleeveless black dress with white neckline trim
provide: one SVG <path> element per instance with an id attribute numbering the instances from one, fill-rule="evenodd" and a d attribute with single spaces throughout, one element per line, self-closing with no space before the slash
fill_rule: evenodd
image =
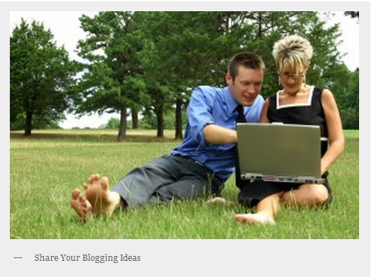
<path id="1" fill-rule="evenodd" d="M 306 103 L 295 104 L 280 104 L 280 93 L 269 96 L 269 106 L 267 111 L 268 120 L 270 122 L 280 122 L 287 124 L 305 124 L 320 126 L 321 133 L 321 156 L 327 150 L 327 125 L 325 113 L 322 107 L 322 92 L 323 88 L 311 86 L 309 96 Z M 322 177 L 325 178 L 325 187 L 329 191 L 328 204 L 331 200 L 331 189 L 327 182 L 325 173 Z M 286 183 L 286 182 L 265 182 L 265 181 L 244 181 L 240 187 L 238 201 L 248 208 L 254 207 L 263 198 L 280 191 L 289 191 L 297 189 L 301 184 Z"/>

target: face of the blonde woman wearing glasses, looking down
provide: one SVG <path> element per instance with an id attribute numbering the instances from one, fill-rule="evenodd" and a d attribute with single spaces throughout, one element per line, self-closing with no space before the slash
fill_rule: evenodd
<path id="1" fill-rule="evenodd" d="M 280 83 L 286 93 L 295 94 L 299 92 L 301 86 L 304 85 L 304 77 L 306 69 L 293 68 L 290 65 L 283 66 L 278 72 Z"/>

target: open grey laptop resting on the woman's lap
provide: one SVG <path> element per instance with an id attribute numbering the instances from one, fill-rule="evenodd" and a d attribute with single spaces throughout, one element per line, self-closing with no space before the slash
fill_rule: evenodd
<path id="1" fill-rule="evenodd" d="M 237 123 L 242 180 L 323 183 L 320 127 L 282 123 Z"/>

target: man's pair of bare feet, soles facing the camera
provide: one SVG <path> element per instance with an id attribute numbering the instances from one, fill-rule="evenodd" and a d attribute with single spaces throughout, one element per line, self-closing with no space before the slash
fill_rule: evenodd
<path id="1" fill-rule="evenodd" d="M 74 189 L 70 203 L 77 215 L 84 220 L 89 219 L 92 214 L 110 216 L 120 204 L 119 194 L 109 190 L 107 177 L 93 174 L 83 187 L 85 196 L 79 189 Z"/>

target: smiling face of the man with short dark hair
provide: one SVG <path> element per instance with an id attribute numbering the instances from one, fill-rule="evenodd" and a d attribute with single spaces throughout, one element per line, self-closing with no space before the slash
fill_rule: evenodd
<path id="1" fill-rule="evenodd" d="M 226 81 L 230 88 L 232 97 L 242 104 L 242 106 L 251 106 L 256 96 L 261 92 L 263 85 L 263 69 L 251 69 L 240 66 L 237 70 L 235 81 L 229 73 L 226 74 Z"/>

